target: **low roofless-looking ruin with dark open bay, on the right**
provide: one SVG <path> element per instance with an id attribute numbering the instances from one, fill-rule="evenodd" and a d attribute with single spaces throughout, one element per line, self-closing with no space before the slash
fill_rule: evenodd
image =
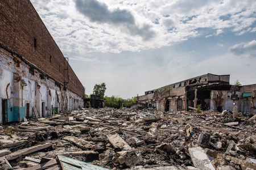
<path id="1" fill-rule="evenodd" d="M 137 101 L 163 112 L 187 111 L 199 104 L 203 111 L 233 111 L 233 103 L 236 103 L 239 112 L 256 113 L 256 84 L 233 86 L 229 84 L 229 78 L 230 75 L 208 73 L 146 91 L 145 95 L 137 97 Z"/>

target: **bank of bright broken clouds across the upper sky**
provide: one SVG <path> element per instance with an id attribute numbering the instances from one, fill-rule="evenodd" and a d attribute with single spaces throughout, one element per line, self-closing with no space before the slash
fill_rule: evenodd
<path id="1" fill-rule="evenodd" d="M 192 37 L 218 36 L 225 29 L 237 35 L 255 32 L 253 0 L 31 2 L 64 52 L 138 52 Z"/>

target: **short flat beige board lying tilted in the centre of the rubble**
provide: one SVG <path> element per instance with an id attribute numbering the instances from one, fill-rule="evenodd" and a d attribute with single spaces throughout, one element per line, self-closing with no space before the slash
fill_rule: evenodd
<path id="1" fill-rule="evenodd" d="M 131 147 L 121 138 L 118 134 L 108 134 L 106 135 L 108 137 L 109 142 L 115 147 L 115 148 L 122 148 L 123 150 L 130 150 Z"/>

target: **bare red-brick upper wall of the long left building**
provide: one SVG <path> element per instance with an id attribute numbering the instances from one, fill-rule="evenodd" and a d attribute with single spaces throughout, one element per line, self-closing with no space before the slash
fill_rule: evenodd
<path id="1" fill-rule="evenodd" d="M 0 1 L 0 9 L 0 42 L 60 83 L 67 82 L 64 69 L 69 65 L 31 2 Z M 67 88 L 84 96 L 84 87 L 70 66 L 68 71 Z"/>

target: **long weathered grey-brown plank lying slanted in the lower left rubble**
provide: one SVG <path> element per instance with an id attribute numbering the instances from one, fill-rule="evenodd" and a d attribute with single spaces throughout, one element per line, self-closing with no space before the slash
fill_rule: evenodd
<path id="1" fill-rule="evenodd" d="M 29 148 L 24 148 L 23 150 L 18 150 L 16 152 L 11 153 L 6 156 L 7 160 L 13 160 L 19 158 L 20 156 L 31 154 L 32 152 L 36 152 L 39 150 L 43 150 L 44 148 L 52 146 L 52 143 L 45 143 L 44 145 L 36 145 Z"/>

